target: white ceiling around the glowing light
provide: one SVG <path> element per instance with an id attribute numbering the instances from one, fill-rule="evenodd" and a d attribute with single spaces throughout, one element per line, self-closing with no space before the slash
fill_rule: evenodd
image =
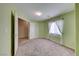
<path id="1" fill-rule="evenodd" d="M 19 3 L 15 5 L 17 10 L 25 14 L 30 20 L 46 20 L 74 9 L 72 3 Z M 36 11 L 42 12 L 42 16 L 36 16 L 34 14 Z"/>

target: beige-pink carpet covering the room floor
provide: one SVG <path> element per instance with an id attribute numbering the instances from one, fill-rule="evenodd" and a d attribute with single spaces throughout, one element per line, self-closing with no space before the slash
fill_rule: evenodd
<path id="1" fill-rule="evenodd" d="M 74 51 L 47 39 L 34 39 L 19 45 L 16 56 L 74 56 Z"/>

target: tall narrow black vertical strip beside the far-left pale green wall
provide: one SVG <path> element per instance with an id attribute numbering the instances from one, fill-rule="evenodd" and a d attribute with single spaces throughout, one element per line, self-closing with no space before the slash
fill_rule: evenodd
<path id="1" fill-rule="evenodd" d="M 15 16 L 13 14 L 13 11 L 11 11 L 11 56 L 14 56 L 14 51 L 15 51 L 15 20 L 14 20 Z"/>

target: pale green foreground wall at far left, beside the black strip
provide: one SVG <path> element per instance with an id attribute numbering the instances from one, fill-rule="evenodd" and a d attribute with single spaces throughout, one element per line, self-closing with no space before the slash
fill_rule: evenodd
<path id="1" fill-rule="evenodd" d="M 0 4 L 0 56 L 11 55 L 11 11 Z"/>

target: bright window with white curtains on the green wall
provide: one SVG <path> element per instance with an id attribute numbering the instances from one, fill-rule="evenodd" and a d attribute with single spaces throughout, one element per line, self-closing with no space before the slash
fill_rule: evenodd
<path id="1" fill-rule="evenodd" d="M 63 20 L 49 22 L 49 34 L 62 35 Z"/>

